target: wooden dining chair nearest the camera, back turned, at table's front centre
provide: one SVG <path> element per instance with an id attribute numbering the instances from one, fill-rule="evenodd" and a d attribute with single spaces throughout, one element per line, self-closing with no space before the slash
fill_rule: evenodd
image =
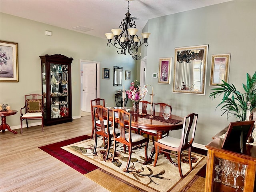
<path id="1" fill-rule="evenodd" d="M 127 119 L 128 117 L 128 119 Z M 120 136 L 116 132 L 116 122 L 119 122 Z M 129 157 L 126 165 L 126 170 L 129 168 L 130 160 L 132 157 L 132 147 L 141 148 L 142 144 L 145 143 L 145 158 L 148 160 L 148 138 L 140 134 L 132 132 L 132 115 L 122 109 L 113 109 L 113 127 L 114 127 L 114 151 L 112 162 L 114 162 L 116 153 L 116 142 L 124 144 L 124 152 L 126 153 L 126 146 L 128 146 Z M 128 125 L 128 128 L 127 128 Z M 126 132 L 127 130 L 127 132 Z"/>

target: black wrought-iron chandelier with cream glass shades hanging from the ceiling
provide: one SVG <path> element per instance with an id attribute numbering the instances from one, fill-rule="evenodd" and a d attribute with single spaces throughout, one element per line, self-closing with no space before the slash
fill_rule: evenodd
<path id="1" fill-rule="evenodd" d="M 138 60 L 140 59 L 140 56 L 138 55 L 138 48 L 143 44 L 145 46 L 148 46 L 147 40 L 150 33 L 141 34 L 144 42 L 140 41 L 140 38 L 138 37 L 138 35 L 136 35 L 138 29 L 136 29 L 136 24 L 133 19 L 130 18 L 131 14 L 129 13 L 129 0 L 127 6 L 127 13 L 125 15 L 126 17 L 123 19 L 119 26 L 120 29 L 112 29 L 112 33 L 105 33 L 108 39 L 107 46 L 110 47 L 110 44 L 112 44 L 114 47 L 119 49 L 117 51 L 118 54 L 126 55 L 126 52 L 128 52 L 128 54 L 132 55 L 132 58 Z M 114 43 L 111 42 L 113 37 Z"/>

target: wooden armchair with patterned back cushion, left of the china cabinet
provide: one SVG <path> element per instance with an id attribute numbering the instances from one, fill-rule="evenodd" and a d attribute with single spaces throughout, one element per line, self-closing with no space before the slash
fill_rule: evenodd
<path id="1" fill-rule="evenodd" d="M 25 110 L 25 113 L 23 114 Z M 20 109 L 20 133 L 22 133 L 22 121 L 41 120 L 42 132 L 44 132 L 44 96 L 40 94 L 25 95 L 25 106 Z"/>

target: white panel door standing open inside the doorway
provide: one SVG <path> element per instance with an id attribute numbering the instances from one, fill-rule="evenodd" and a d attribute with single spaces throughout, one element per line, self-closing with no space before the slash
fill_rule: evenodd
<path id="1" fill-rule="evenodd" d="M 83 63 L 82 70 L 82 111 L 91 112 L 91 100 L 96 98 L 96 63 Z"/>

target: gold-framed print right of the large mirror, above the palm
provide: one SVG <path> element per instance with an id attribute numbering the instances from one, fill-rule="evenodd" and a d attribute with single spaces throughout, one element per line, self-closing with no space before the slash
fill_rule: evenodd
<path id="1" fill-rule="evenodd" d="M 223 84 L 222 80 L 228 83 L 229 66 L 230 54 L 212 55 L 210 86 Z"/>

